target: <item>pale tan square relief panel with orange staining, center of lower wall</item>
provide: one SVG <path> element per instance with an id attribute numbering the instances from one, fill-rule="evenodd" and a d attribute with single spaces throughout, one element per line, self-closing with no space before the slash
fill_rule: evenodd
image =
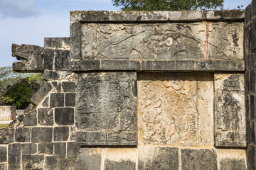
<path id="1" fill-rule="evenodd" d="M 213 74 L 141 73 L 139 145 L 213 145 Z"/>

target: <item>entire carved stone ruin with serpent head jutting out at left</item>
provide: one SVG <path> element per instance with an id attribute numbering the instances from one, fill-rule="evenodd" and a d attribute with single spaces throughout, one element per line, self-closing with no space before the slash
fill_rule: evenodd
<path id="1" fill-rule="evenodd" d="M 0 169 L 255 169 L 255 16 L 71 11 L 70 38 L 13 45 L 47 82 Z"/>

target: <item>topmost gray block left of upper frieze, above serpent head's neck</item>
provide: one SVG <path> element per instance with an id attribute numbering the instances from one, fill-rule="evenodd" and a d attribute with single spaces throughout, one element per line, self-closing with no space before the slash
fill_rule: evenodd
<path id="1" fill-rule="evenodd" d="M 70 48 L 70 38 L 44 38 L 44 47 Z"/>

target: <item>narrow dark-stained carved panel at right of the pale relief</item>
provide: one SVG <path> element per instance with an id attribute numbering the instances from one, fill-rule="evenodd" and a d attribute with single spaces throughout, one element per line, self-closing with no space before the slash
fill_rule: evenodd
<path id="1" fill-rule="evenodd" d="M 243 74 L 215 74 L 215 145 L 245 147 Z"/>

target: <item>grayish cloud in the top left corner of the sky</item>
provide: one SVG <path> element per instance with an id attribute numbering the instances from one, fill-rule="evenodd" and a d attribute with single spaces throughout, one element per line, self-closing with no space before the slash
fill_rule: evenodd
<path id="1" fill-rule="evenodd" d="M 37 16 L 34 0 L 0 0 L 0 16 L 26 18 Z"/>

